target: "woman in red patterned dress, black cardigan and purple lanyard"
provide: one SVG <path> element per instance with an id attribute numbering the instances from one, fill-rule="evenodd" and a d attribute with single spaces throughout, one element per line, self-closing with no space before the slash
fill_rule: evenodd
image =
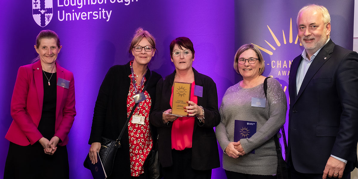
<path id="1" fill-rule="evenodd" d="M 95 164 L 102 137 L 116 140 L 121 137 L 112 173 L 109 178 L 144 179 L 144 163 L 156 141 L 156 131 L 149 124 L 149 113 L 155 102 L 155 87 L 161 76 L 150 71 L 148 63 L 155 54 L 155 39 L 146 30 L 138 28 L 129 47 L 134 59 L 125 65 L 109 69 L 103 80 L 93 114 L 89 137 L 89 158 Z M 139 100 L 139 99 L 142 100 Z M 134 108 L 135 103 L 138 106 Z M 130 116 L 131 111 L 133 115 Z M 130 117 L 128 123 L 127 118 Z M 128 127 L 124 127 L 128 126 Z M 124 127 L 124 128 L 123 128 Z"/>

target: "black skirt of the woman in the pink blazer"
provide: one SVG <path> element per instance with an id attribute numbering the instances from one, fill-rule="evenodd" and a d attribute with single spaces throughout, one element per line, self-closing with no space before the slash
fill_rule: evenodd
<path id="1" fill-rule="evenodd" d="M 20 146 L 10 142 L 4 179 L 66 179 L 69 178 L 66 146 L 57 146 L 53 155 L 44 153 L 39 142 Z"/>

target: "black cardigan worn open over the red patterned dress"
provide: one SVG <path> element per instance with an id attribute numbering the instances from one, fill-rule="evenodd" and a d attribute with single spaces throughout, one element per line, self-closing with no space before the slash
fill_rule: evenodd
<path id="1" fill-rule="evenodd" d="M 101 142 L 101 136 L 116 140 L 127 120 L 127 96 L 131 80 L 128 77 L 131 74 L 129 62 L 125 65 L 116 65 L 111 67 L 98 92 L 98 97 L 93 114 L 91 135 L 88 144 Z M 149 79 L 150 71 L 148 69 L 145 78 Z M 146 91 L 149 93 L 152 101 L 150 111 L 153 111 L 155 104 L 155 87 L 161 76 L 152 71 L 152 77 Z M 148 80 L 144 83 L 147 85 Z M 153 141 L 156 142 L 156 129 L 150 126 Z M 128 129 L 125 128 L 121 138 L 121 148 L 118 149 L 115 160 L 118 160 L 116 169 L 120 170 L 122 177 L 130 177 L 130 159 L 129 159 L 129 140 Z M 116 164 L 116 161 L 115 161 Z M 113 166 L 115 167 L 115 166 Z M 112 172 L 113 173 L 113 172 Z M 118 172 L 117 172 L 118 173 Z"/>

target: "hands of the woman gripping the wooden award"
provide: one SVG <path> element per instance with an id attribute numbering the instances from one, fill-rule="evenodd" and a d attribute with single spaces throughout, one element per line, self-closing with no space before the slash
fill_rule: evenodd
<path id="1" fill-rule="evenodd" d="M 199 118 L 203 118 L 203 110 L 201 107 L 199 107 L 197 104 L 195 104 L 193 101 L 187 101 L 187 103 L 190 106 L 185 106 L 185 112 L 188 112 L 189 117 L 199 117 Z M 165 113 L 171 113 L 171 109 L 168 109 L 166 111 L 164 111 Z M 163 123 L 166 124 L 167 122 L 173 122 L 178 118 L 178 116 L 173 116 L 173 115 L 169 115 L 169 114 L 164 114 L 162 115 L 162 120 Z M 204 123 L 204 120 L 202 121 Z"/>

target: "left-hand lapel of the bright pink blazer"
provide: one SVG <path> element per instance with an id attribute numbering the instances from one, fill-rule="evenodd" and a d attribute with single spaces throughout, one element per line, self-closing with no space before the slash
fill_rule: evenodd
<path id="1" fill-rule="evenodd" d="M 40 60 L 35 62 L 33 65 L 34 69 L 34 79 L 35 79 L 35 86 L 37 91 L 37 97 L 39 99 L 39 110 L 42 111 L 43 99 L 44 99 L 44 82 L 42 76 L 42 66 Z"/>

